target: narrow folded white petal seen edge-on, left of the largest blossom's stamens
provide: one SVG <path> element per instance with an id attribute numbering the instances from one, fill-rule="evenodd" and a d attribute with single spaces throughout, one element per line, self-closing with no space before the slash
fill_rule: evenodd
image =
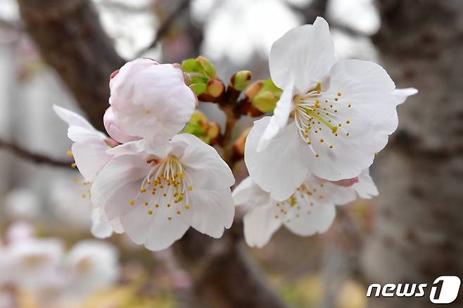
<path id="1" fill-rule="evenodd" d="M 272 139 L 274 139 L 275 136 L 277 136 L 277 134 L 286 127 L 289 115 L 291 114 L 291 111 L 293 111 L 293 91 L 293 82 L 289 82 L 277 102 L 277 107 L 270 118 L 269 124 L 265 128 L 264 134 L 262 134 L 262 137 L 259 140 L 258 152 L 265 150 Z"/>

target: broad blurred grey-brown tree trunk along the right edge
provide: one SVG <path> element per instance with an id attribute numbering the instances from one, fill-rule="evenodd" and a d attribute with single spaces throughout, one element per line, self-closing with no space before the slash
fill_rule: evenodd
<path id="1" fill-rule="evenodd" d="M 398 108 L 400 127 L 377 160 L 381 204 L 364 269 L 369 283 L 428 283 L 421 300 L 372 298 L 371 307 L 431 307 L 435 278 L 463 278 L 463 1 L 379 8 L 384 66 L 420 92 Z"/>

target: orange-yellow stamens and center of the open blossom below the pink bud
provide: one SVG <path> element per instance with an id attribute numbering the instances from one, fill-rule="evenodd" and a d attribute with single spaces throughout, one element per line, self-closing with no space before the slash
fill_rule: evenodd
<path id="1" fill-rule="evenodd" d="M 167 210 L 167 219 L 172 220 L 173 214 L 181 214 L 189 210 L 188 193 L 193 190 L 191 178 L 174 155 L 164 160 L 148 160 L 153 168 L 141 182 L 141 188 L 135 198 L 129 200 L 129 205 L 144 205 L 148 214 L 152 215 L 161 209 Z"/>

